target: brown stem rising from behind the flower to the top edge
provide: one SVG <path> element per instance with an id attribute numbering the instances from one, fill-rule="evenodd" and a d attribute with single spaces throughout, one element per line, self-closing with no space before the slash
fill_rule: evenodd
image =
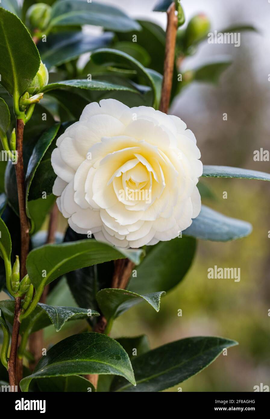
<path id="1" fill-rule="evenodd" d="M 172 91 L 172 75 L 175 62 L 175 42 L 178 19 L 175 15 L 175 2 L 167 10 L 167 29 L 165 44 L 164 74 L 159 111 L 167 114 Z"/>

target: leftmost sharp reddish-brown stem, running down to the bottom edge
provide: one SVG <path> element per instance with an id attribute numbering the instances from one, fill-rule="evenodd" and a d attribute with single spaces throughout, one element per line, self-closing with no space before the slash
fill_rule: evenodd
<path id="1" fill-rule="evenodd" d="M 26 275 L 26 257 L 29 249 L 29 224 L 26 215 L 26 194 L 23 170 L 23 129 L 24 122 L 22 119 L 17 119 L 16 125 L 16 151 L 17 151 L 17 164 L 15 165 L 17 190 L 18 190 L 18 203 L 19 214 L 21 223 L 21 258 L 20 258 L 20 277 L 21 279 Z M 15 298 L 14 321 L 10 346 L 10 357 L 8 360 L 8 375 L 10 385 L 18 385 L 19 380 L 22 378 L 22 363 L 17 361 L 18 339 L 20 331 L 19 316 L 21 313 L 21 298 Z M 18 391 L 20 391 L 18 385 Z"/>

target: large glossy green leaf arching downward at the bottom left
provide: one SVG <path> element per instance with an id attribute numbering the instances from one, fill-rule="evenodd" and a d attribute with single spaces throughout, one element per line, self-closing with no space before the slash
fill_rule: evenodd
<path id="1" fill-rule="evenodd" d="M 128 354 L 109 336 L 88 332 L 69 336 L 54 345 L 42 357 L 33 374 L 21 380 L 28 391 L 33 378 L 83 374 L 115 374 L 136 385 Z"/>

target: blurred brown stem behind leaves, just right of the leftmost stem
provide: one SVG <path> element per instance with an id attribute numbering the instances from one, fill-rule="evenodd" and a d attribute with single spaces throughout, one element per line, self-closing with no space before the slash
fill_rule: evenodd
<path id="1" fill-rule="evenodd" d="M 57 221 L 58 221 L 58 207 L 57 207 L 57 204 L 55 203 L 50 214 L 48 235 L 47 235 L 47 240 L 46 240 L 47 244 L 54 243 L 55 241 L 55 233 L 57 231 Z M 43 304 L 46 303 L 46 297 L 48 295 L 48 292 L 49 292 L 49 285 L 46 285 L 40 297 L 40 300 L 39 300 L 40 303 L 43 303 Z M 39 362 L 40 357 L 41 357 L 41 350 L 44 348 L 43 329 L 32 333 L 29 336 L 28 344 L 29 344 L 29 351 L 31 352 L 31 354 L 33 354 L 33 357 L 34 357 L 33 362 L 29 363 L 29 368 L 30 370 L 33 370 L 36 364 Z"/>

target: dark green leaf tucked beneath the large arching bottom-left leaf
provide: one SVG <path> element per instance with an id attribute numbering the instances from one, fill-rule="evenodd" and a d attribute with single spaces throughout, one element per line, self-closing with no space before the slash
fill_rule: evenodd
<path id="1" fill-rule="evenodd" d="M 89 380 L 80 375 L 67 377 L 40 378 L 37 380 L 39 390 L 46 393 L 70 392 L 82 393 L 95 391 L 95 387 Z"/>

